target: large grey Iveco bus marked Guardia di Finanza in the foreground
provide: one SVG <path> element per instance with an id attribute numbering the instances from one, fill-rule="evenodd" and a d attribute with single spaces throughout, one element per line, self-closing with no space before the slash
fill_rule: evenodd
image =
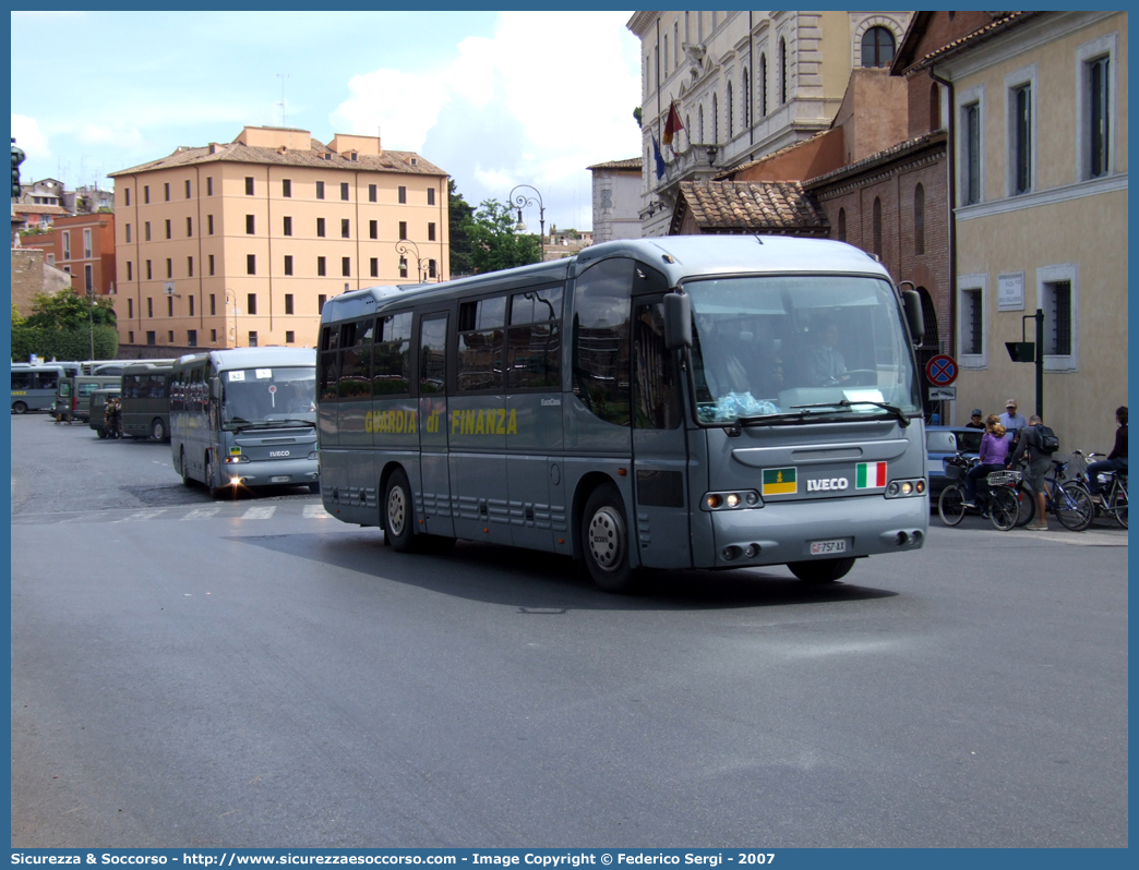
<path id="1" fill-rule="evenodd" d="M 329 299 L 325 508 L 396 550 L 456 537 L 833 582 L 928 525 L 920 301 L 851 246 L 612 241 Z"/>

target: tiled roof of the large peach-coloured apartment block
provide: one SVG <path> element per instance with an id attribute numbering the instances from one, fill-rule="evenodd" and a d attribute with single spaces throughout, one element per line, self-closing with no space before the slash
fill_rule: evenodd
<path id="1" fill-rule="evenodd" d="M 213 151 L 213 153 L 211 153 Z M 323 155 L 331 155 L 326 159 Z M 416 165 L 411 164 L 412 158 Z M 336 154 L 317 139 L 312 140 L 310 150 L 287 148 L 257 148 L 243 142 L 224 142 L 208 145 L 202 148 L 178 148 L 173 154 L 157 161 L 142 163 L 126 170 L 109 173 L 110 178 L 131 175 L 139 172 L 151 172 L 175 166 L 192 166 L 203 163 L 261 163 L 277 166 L 309 166 L 311 169 L 354 170 L 364 172 L 399 172 L 413 175 L 446 175 L 443 170 L 428 163 L 415 151 L 387 151 L 358 154 L 357 159 Z"/>

